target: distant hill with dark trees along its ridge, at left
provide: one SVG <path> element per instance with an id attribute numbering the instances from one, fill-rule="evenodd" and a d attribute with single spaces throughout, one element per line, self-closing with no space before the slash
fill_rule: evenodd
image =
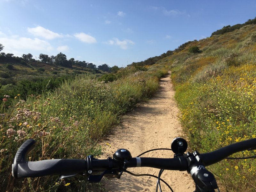
<path id="1" fill-rule="evenodd" d="M 5 54 L 4 52 L 0 54 L 0 86 L 17 84 L 19 81 L 25 79 L 35 81 L 36 79 L 43 77 L 48 78 L 75 76 L 76 74 L 84 73 L 101 73 L 92 63 L 71 60 L 73 58 L 70 60 L 65 58 L 64 61 L 57 61 L 52 56 L 54 58 L 53 60 L 50 60 L 49 57 L 49 60 L 43 62 L 32 59 L 32 57 L 27 58 L 26 56 L 27 55 L 23 54 L 23 57 L 15 57 L 11 53 Z"/>

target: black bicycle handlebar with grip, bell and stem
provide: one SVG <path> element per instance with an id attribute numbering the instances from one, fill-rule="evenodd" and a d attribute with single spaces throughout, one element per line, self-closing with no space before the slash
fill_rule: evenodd
<path id="1" fill-rule="evenodd" d="M 93 156 L 87 156 L 86 159 L 26 161 L 28 152 L 35 144 L 35 140 L 29 139 L 18 149 L 12 164 L 12 176 L 14 178 L 41 177 L 46 175 L 74 176 L 77 173 L 91 175 L 93 171 L 118 170 L 118 172 L 121 172 L 128 167 L 154 167 L 166 170 L 187 170 L 194 179 L 196 186 L 200 182 L 208 182 L 208 184 L 204 185 L 211 185 L 210 187 L 216 188 L 217 183 L 214 176 L 204 166 L 217 163 L 236 152 L 255 149 L 256 139 L 234 143 L 204 154 L 199 154 L 196 151 L 193 154 L 177 154 L 174 158 L 132 158 L 128 150 L 118 149 L 113 155 L 113 159 L 109 157 L 108 159 L 100 160 L 93 158 Z M 205 175 L 207 175 L 207 178 Z M 210 176 L 208 177 L 208 175 Z M 198 191 L 200 190 L 198 189 Z"/>

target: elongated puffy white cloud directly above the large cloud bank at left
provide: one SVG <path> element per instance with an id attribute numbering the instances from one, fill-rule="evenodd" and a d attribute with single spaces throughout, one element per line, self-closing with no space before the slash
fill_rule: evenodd
<path id="1" fill-rule="evenodd" d="M 43 28 L 41 26 L 35 27 L 35 28 L 28 28 L 28 32 L 33 34 L 34 36 L 40 36 L 45 39 L 54 39 L 58 37 L 63 37 L 63 35 L 54 33 L 50 31 L 49 29 Z"/>

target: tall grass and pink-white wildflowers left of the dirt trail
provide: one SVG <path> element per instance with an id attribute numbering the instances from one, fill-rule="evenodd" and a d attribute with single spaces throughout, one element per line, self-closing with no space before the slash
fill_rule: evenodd
<path id="1" fill-rule="evenodd" d="M 111 132 L 120 115 L 146 100 L 158 88 L 158 80 L 167 70 L 163 67 L 146 71 L 121 70 L 117 81 L 102 83 L 91 76 L 65 81 L 54 92 L 17 95 L 12 105 L 5 96 L 1 106 L 0 183 L 4 191 L 84 191 L 83 178 L 72 179 L 71 188 L 57 176 L 14 180 L 11 164 L 24 140 L 36 140 L 29 160 L 85 158 L 100 154 L 97 141 Z"/>

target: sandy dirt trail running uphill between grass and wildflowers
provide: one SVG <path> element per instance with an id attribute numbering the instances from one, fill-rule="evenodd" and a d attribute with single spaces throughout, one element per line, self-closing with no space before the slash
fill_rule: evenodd
<path id="1" fill-rule="evenodd" d="M 133 112 L 123 116 L 120 126 L 102 142 L 104 154 L 101 158 L 113 156 L 118 148 L 128 149 L 132 157 L 153 148 L 171 148 L 175 137 L 182 136 L 182 128 L 177 118 L 179 112 L 174 100 L 170 74 L 160 81 L 159 91 L 149 102 L 140 105 Z M 110 146 L 109 146 L 109 145 Z M 172 158 L 172 151 L 149 152 L 143 157 Z M 128 171 L 158 175 L 159 169 L 138 167 Z M 175 192 L 191 192 L 194 183 L 187 172 L 165 170 L 161 176 Z M 134 177 L 124 173 L 120 180 L 104 180 L 108 191 L 156 191 L 156 179 L 148 176 Z M 163 191 L 170 191 L 162 185 Z"/>

